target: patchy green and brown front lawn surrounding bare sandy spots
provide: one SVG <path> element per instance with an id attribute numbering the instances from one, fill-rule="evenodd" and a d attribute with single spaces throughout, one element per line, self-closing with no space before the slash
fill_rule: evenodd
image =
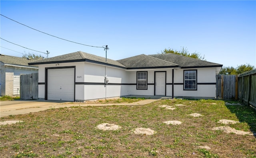
<path id="1" fill-rule="evenodd" d="M 182 104 L 183 106 L 177 106 Z M 168 110 L 160 105 L 175 107 Z M 203 116 L 188 116 L 199 113 Z M 232 125 L 220 119 L 240 121 Z M 37 113 L 1 117 L 1 157 L 46 158 L 256 158 L 256 138 L 213 131 L 229 126 L 256 132 L 256 111 L 225 105 L 220 100 L 159 100 L 147 105 L 63 107 Z M 164 121 L 181 121 L 166 125 Z M 117 131 L 102 131 L 101 123 L 119 125 Z M 154 135 L 135 135 L 135 128 L 150 128 Z M 201 148 L 208 146 L 209 148 Z"/>

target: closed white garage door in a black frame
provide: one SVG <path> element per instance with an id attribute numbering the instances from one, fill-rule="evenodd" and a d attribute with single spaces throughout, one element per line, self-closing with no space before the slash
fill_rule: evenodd
<path id="1" fill-rule="evenodd" d="M 74 101 L 74 68 L 48 69 L 47 99 Z"/>

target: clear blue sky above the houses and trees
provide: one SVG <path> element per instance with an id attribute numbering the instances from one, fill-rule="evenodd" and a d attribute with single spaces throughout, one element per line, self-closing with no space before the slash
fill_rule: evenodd
<path id="1" fill-rule="evenodd" d="M 1 0 L 0 13 L 63 39 L 108 45 L 107 57 L 113 60 L 186 47 L 189 53 L 196 51 L 224 66 L 256 66 L 256 1 Z M 103 48 L 63 41 L 3 16 L 0 22 L 1 38 L 36 51 L 47 50 L 49 57 L 76 51 L 105 57 Z M 2 39 L 0 45 L 1 54 L 46 57 Z"/>

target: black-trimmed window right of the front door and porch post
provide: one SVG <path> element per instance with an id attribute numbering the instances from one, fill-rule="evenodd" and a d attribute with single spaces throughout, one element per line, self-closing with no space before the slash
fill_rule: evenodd
<path id="1" fill-rule="evenodd" d="M 197 70 L 184 70 L 184 90 L 197 89 Z"/>

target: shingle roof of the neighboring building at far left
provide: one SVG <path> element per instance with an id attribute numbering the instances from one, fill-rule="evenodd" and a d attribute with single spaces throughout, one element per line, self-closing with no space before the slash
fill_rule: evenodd
<path id="1" fill-rule="evenodd" d="M 36 60 L 0 54 L 0 61 L 3 62 L 4 64 L 12 64 L 17 66 L 29 66 L 28 65 L 29 62 L 33 62 Z M 33 66 L 33 67 L 38 67 L 38 66 Z"/>

